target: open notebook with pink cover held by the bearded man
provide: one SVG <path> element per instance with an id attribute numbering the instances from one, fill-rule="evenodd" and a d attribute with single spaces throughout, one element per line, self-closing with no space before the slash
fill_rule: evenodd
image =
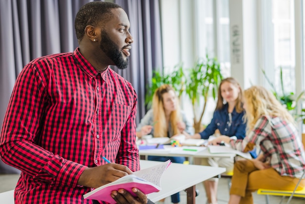
<path id="1" fill-rule="evenodd" d="M 120 188 L 127 190 L 133 196 L 135 196 L 132 192 L 133 187 L 138 188 L 145 194 L 158 192 L 161 190 L 161 176 L 171 163 L 171 160 L 168 160 L 167 162 L 157 164 L 150 168 L 135 171 L 133 174 L 121 177 L 112 183 L 102 185 L 95 190 L 86 193 L 84 199 L 105 201 L 110 204 L 115 204 L 116 202 L 111 197 L 111 192 Z"/>

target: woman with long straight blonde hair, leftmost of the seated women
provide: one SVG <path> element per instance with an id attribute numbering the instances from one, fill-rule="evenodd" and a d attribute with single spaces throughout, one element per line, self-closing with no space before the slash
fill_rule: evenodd
<path id="1" fill-rule="evenodd" d="M 180 110 L 179 101 L 174 89 L 169 84 L 163 84 L 153 94 L 152 109 L 143 117 L 136 128 L 136 136 L 152 134 L 153 137 L 172 137 L 187 132 L 193 133 L 193 127 L 183 111 Z M 184 157 L 158 157 L 149 156 L 148 160 L 174 163 L 183 163 Z M 180 202 L 179 193 L 172 195 L 172 203 Z"/>

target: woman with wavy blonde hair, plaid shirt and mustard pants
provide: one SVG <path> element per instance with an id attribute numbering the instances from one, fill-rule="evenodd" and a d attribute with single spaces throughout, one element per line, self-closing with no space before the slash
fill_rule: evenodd
<path id="1" fill-rule="evenodd" d="M 247 134 L 244 140 L 217 138 L 244 152 L 261 149 L 253 160 L 236 161 L 229 204 L 253 204 L 258 188 L 293 190 L 305 166 L 305 152 L 293 117 L 275 96 L 262 86 L 244 91 Z M 305 187 L 302 179 L 298 189 Z"/>

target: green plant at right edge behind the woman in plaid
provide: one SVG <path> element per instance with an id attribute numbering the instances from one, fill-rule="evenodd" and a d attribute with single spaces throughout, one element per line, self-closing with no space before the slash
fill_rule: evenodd
<path id="1" fill-rule="evenodd" d="M 280 83 L 281 83 L 281 93 L 279 93 L 276 89 L 274 84 L 270 81 L 267 77 L 265 70 L 262 70 L 267 82 L 272 88 L 272 92 L 274 96 L 277 98 L 279 102 L 281 102 L 286 109 L 291 113 L 296 121 L 302 120 L 303 124 L 305 124 L 305 109 L 301 110 L 301 114 L 298 114 L 298 105 L 299 103 L 303 102 L 303 96 L 305 95 L 305 91 L 302 91 L 298 96 L 293 92 L 286 92 L 284 88 L 283 82 L 283 69 L 280 67 Z"/>

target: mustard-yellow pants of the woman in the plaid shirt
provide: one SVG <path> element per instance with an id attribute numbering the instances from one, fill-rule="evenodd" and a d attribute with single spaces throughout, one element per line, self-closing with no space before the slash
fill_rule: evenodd
<path id="1" fill-rule="evenodd" d="M 239 204 L 253 204 L 253 191 L 259 188 L 293 190 L 298 181 L 298 178 L 281 176 L 273 168 L 259 170 L 252 161 L 240 160 L 234 164 L 230 195 L 241 196 Z M 302 189 L 304 186 L 305 179 L 302 179 L 297 190 Z"/>

